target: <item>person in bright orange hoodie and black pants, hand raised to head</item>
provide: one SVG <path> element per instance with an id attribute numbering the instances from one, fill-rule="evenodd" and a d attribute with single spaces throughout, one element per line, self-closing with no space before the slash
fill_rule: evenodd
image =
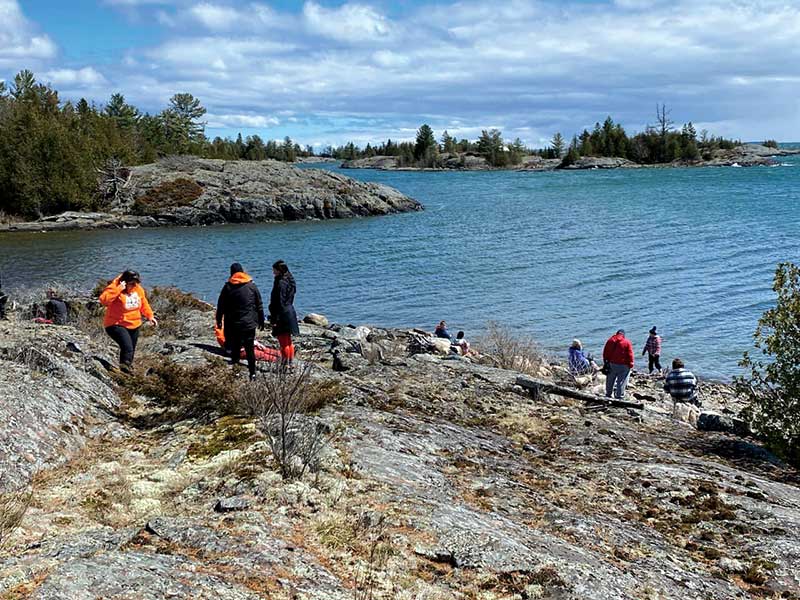
<path id="1" fill-rule="evenodd" d="M 119 368 L 130 373 L 142 317 L 154 327 L 158 326 L 141 286 L 139 273 L 128 270 L 115 277 L 100 294 L 100 304 L 106 307 L 106 316 L 103 319 L 106 333 L 119 346 Z"/>

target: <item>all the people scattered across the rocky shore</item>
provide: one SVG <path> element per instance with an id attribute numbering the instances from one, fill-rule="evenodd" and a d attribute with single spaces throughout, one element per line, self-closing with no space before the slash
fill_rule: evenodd
<path id="1" fill-rule="evenodd" d="M 217 341 L 225 348 L 236 365 L 244 358 L 250 378 L 256 376 L 256 361 L 265 360 L 280 362 L 291 366 L 295 357 L 292 336 L 300 334 L 294 298 L 297 284 L 288 265 L 276 261 L 272 265 L 273 284 L 268 304 L 268 316 L 265 318 L 261 292 L 253 278 L 248 275 L 238 262 L 230 266 L 230 277 L 223 285 L 217 299 L 215 313 L 215 334 Z M 40 323 L 65 324 L 67 321 L 67 305 L 56 294 L 48 290 L 48 301 L 42 314 L 36 308 L 35 321 Z M 0 318 L 5 318 L 8 296 L 2 291 L 0 279 Z M 100 303 L 105 306 L 103 327 L 109 337 L 119 346 L 119 368 L 129 373 L 133 367 L 139 330 L 143 320 L 154 327 L 158 326 L 153 309 L 147 300 L 147 294 L 141 286 L 139 273 L 127 270 L 105 287 L 100 294 Z M 267 322 L 272 334 L 278 340 L 279 349 L 269 348 L 256 340 L 256 330 L 264 330 Z M 470 344 L 459 331 L 452 336 L 447 330 L 447 323 L 440 321 L 434 330 L 434 336 L 450 341 L 451 352 L 467 355 Z M 649 336 L 642 350 L 642 356 L 648 356 L 648 372 L 662 374 L 661 368 L 661 336 L 656 327 L 650 329 Z M 625 330 L 619 329 L 603 347 L 602 368 L 594 361 L 591 354 L 583 350 L 580 340 L 573 340 L 568 351 L 568 368 L 576 376 L 590 375 L 594 378 L 597 372 L 606 376 L 605 395 L 623 399 L 631 371 L 634 367 L 634 351 L 630 340 L 625 337 Z M 697 378 L 686 369 L 680 358 L 672 361 L 672 370 L 666 374 L 664 391 L 670 394 L 675 402 L 699 404 L 697 395 Z"/>

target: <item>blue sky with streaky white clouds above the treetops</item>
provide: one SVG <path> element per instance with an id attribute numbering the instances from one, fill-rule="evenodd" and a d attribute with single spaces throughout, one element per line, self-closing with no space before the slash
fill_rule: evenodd
<path id="1" fill-rule="evenodd" d="M 319 148 L 496 127 L 541 147 L 611 115 L 800 140 L 800 0 L 0 0 L 0 79 L 64 100 L 178 92 L 206 133 Z"/>

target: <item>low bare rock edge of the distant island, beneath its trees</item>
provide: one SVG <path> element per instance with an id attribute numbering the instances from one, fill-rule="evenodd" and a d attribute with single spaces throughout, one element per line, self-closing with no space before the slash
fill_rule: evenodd
<path id="1" fill-rule="evenodd" d="M 555 171 L 590 169 L 668 169 L 677 167 L 755 167 L 777 164 L 776 156 L 793 156 L 800 150 L 781 150 L 760 144 L 744 144 L 732 150 L 717 150 L 709 160 L 675 161 L 668 164 L 643 165 L 626 158 L 584 156 L 569 166 L 561 167 L 561 159 L 545 159 L 540 156 L 526 156 L 519 165 L 492 167 L 481 156 L 471 154 L 443 154 L 441 166 L 436 168 L 399 167 L 395 156 L 373 156 L 348 160 L 342 163 L 343 169 L 377 169 L 387 171 Z"/>

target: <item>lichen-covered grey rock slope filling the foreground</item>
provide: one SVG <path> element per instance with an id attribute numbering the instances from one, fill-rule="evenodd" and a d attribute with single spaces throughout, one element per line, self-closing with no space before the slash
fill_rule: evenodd
<path id="1" fill-rule="evenodd" d="M 34 478 L 0 597 L 800 597 L 798 473 L 673 414 L 655 379 L 629 388 L 643 410 L 534 398 L 519 372 L 424 332 L 310 317 L 296 344 L 319 397 L 304 418 L 331 434 L 313 472 L 282 480 L 257 423 L 219 395 L 248 384 L 209 307 L 153 296 L 162 327 L 133 378 L 106 370 L 91 302 L 80 329 L 0 323 L 0 507 Z M 520 364 L 576 385 L 559 364 Z M 738 413 L 729 387 L 701 390 L 706 413 Z"/>

